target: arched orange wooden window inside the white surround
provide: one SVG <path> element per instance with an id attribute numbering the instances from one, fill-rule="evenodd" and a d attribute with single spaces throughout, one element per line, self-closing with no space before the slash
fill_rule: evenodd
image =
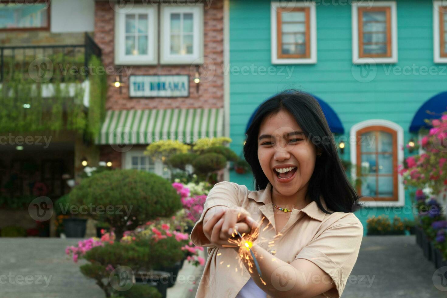
<path id="1" fill-rule="evenodd" d="M 356 133 L 357 192 L 363 201 L 398 201 L 397 132 L 368 126 Z"/>

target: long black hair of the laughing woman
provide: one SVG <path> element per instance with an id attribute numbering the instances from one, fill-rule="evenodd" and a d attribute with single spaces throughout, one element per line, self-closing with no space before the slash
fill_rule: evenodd
<path id="1" fill-rule="evenodd" d="M 287 89 L 264 101 L 257 109 L 246 132 L 244 157 L 253 171 L 256 190 L 265 189 L 269 182 L 257 157 L 259 127 L 264 118 L 281 110 L 291 113 L 306 138 L 320 140 L 314 143 L 321 149 L 321 155 L 316 159 L 307 193 L 312 201 L 316 201 L 320 210 L 326 214 L 331 213 L 325 210 L 318 200 L 320 195 L 323 196 L 326 206 L 334 212 L 357 211 L 362 204 L 358 201 L 358 194 L 343 169 L 320 104 L 312 95 L 296 89 Z"/>

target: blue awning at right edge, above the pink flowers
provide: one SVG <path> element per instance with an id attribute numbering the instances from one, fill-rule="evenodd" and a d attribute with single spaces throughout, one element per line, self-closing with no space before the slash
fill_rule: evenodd
<path id="1" fill-rule="evenodd" d="M 447 92 L 442 92 L 428 101 L 417 110 L 414 114 L 413 121 L 411 121 L 410 132 L 417 132 L 421 128 L 430 129 L 424 119 L 438 119 L 441 118 L 442 113 L 447 109 Z"/>

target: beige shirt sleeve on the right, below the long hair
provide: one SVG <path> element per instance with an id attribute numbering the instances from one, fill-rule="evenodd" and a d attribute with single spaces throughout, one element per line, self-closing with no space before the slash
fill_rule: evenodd
<path id="1" fill-rule="evenodd" d="M 332 277 L 337 289 L 326 291 L 323 293 L 325 297 L 340 298 L 345 289 L 363 239 L 363 225 L 357 221 L 342 224 L 335 222 L 295 257 L 295 260 L 306 259 L 315 263 Z"/>

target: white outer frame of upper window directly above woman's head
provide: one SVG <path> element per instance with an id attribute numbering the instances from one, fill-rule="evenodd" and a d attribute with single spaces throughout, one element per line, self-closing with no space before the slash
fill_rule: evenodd
<path id="1" fill-rule="evenodd" d="M 278 58 L 277 9 L 278 8 L 309 8 L 310 25 L 310 58 Z M 271 2 L 270 5 L 270 54 L 272 64 L 315 64 L 316 58 L 316 4 L 313 1 Z"/>

